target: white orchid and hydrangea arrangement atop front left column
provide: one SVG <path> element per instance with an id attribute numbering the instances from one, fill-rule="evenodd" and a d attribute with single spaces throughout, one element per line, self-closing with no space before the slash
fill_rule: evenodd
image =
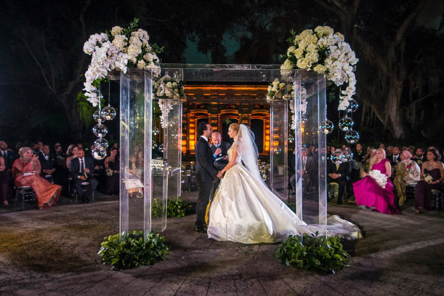
<path id="1" fill-rule="evenodd" d="M 162 48 L 149 45 L 147 31 L 137 29 L 138 19 L 128 28 L 115 26 L 106 33 L 93 34 L 83 44 L 83 51 L 91 55 L 91 63 L 85 73 L 85 96 L 95 107 L 99 103 L 96 92 L 98 81 L 104 79 L 112 70 L 126 73 L 128 67 L 154 69 L 160 72 L 160 60 L 157 54 Z"/>

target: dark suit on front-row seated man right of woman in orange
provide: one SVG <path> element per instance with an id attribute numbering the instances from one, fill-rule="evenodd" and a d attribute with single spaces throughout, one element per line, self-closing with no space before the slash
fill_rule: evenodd
<path id="1" fill-rule="evenodd" d="M 91 194 L 92 192 L 94 192 L 94 190 L 96 190 L 97 185 L 99 184 L 99 182 L 97 182 L 97 180 L 94 178 L 94 163 L 93 160 L 89 157 L 83 157 L 83 161 L 84 161 L 84 166 L 85 169 L 88 168 L 89 172 L 87 173 L 87 179 L 86 181 L 83 181 L 81 179 L 79 179 L 79 176 L 82 175 L 82 173 L 80 173 L 80 160 L 78 157 L 75 157 L 71 160 L 71 165 L 70 165 L 70 177 L 73 178 L 73 184 L 74 184 L 74 188 L 77 190 L 77 194 L 78 197 L 83 201 L 83 202 L 89 202 L 89 199 L 87 196 L 84 196 L 84 193 L 82 191 L 81 188 L 81 184 L 82 182 L 89 182 L 89 194 Z"/>

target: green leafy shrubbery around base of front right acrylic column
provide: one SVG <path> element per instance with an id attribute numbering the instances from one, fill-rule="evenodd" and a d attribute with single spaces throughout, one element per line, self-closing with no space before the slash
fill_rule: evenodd
<path id="1" fill-rule="evenodd" d="M 303 244 L 302 244 L 303 242 Z M 337 236 L 290 235 L 276 251 L 276 257 L 287 265 L 318 273 L 336 273 L 348 265 L 350 255 L 342 250 L 340 238 Z"/>

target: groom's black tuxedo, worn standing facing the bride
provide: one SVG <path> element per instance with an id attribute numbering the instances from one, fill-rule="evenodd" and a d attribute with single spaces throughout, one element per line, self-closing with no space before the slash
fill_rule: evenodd
<path id="1" fill-rule="evenodd" d="M 205 226 L 205 211 L 210 200 L 213 180 L 217 178 L 218 170 L 213 166 L 213 153 L 208 142 L 199 137 L 194 147 L 196 155 L 196 181 L 199 195 L 196 205 L 196 227 Z"/>

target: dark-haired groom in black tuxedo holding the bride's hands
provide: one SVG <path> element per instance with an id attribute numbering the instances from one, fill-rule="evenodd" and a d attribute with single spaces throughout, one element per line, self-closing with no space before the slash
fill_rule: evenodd
<path id="1" fill-rule="evenodd" d="M 194 147 L 194 153 L 196 155 L 196 181 L 199 195 L 196 205 L 196 226 L 194 231 L 202 233 L 207 232 L 205 212 L 210 200 L 213 180 L 215 178 L 222 178 L 221 171 L 218 171 L 213 166 L 213 156 L 208 144 L 208 139 L 212 133 L 213 130 L 208 122 L 200 122 L 197 126 L 197 136 L 199 139 Z"/>

